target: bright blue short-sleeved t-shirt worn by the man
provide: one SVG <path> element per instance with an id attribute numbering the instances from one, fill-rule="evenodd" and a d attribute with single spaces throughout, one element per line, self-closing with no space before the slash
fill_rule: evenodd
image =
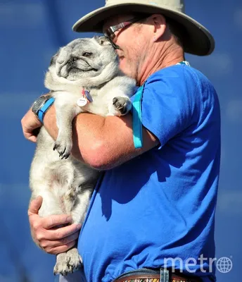
<path id="1" fill-rule="evenodd" d="M 169 258 L 210 281 L 220 161 L 215 89 L 190 66 L 163 68 L 146 81 L 141 109 L 160 145 L 99 180 L 78 243 L 87 281 L 172 266 Z"/>

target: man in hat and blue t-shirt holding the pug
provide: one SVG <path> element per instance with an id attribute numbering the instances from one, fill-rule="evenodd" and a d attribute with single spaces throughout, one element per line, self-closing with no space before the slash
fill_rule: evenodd
<path id="1" fill-rule="evenodd" d="M 71 219 L 40 218 L 42 199 L 30 205 L 32 234 L 46 252 L 68 250 L 79 235 L 89 282 L 215 281 L 209 259 L 215 256 L 219 102 L 210 81 L 184 61 L 184 51 L 210 54 L 214 41 L 183 11 L 181 0 L 108 0 L 74 25 L 77 32 L 103 30 L 118 48 L 122 71 L 144 85 L 141 149 L 134 148 L 132 114 L 75 118 L 72 154 L 106 171 L 80 235 L 75 224 L 51 230 Z M 22 125 L 35 142 L 42 123 L 31 110 Z M 54 106 L 44 126 L 57 137 Z"/>

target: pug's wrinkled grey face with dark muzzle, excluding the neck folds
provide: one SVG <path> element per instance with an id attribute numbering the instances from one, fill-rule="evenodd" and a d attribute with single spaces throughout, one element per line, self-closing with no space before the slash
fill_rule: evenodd
<path id="1" fill-rule="evenodd" d="M 94 78 L 117 60 L 115 49 L 106 37 L 80 38 L 61 48 L 51 59 L 49 69 L 60 78 L 75 81 Z"/>

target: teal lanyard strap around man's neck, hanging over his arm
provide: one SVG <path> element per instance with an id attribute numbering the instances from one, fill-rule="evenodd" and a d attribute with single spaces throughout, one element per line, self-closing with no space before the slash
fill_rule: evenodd
<path id="1" fill-rule="evenodd" d="M 190 66 L 188 61 L 181 61 L 177 65 Z M 142 134 L 142 115 L 141 115 L 141 100 L 144 92 L 144 82 L 141 87 L 137 90 L 134 101 L 132 103 L 132 113 L 133 113 L 133 140 L 134 148 L 139 149 L 143 146 L 143 134 Z"/>

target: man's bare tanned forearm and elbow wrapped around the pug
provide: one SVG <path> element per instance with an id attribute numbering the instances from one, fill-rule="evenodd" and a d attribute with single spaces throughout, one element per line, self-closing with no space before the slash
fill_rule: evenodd
<path id="1" fill-rule="evenodd" d="M 44 116 L 44 127 L 56 140 L 56 111 L 54 106 Z M 110 169 L 158 145 L 159 141 L 143 128 L 144 145 L 135 149 L 133 143 L 132 115 L 108 116 L 79 114 L 73 121 L 72 155 L 98 169 Z"/>

